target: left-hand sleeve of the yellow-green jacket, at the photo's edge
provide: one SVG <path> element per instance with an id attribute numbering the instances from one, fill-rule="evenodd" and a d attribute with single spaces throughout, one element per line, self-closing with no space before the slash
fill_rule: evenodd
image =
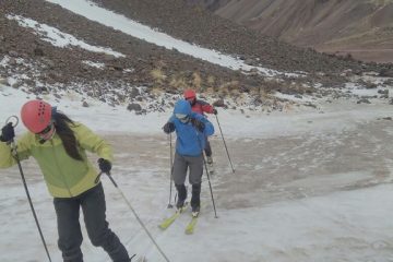
<path id="1" fill-rule="evenodd" d="M 27 159 L 31 156 L 29 151 L 31 136 L 25 134 L 16 142 L 17 156 L 20 160 Z M 16 159 L 13 157 L 11 146 L 7 143 L 0 142 L 0 168 L 8 168 L 16 165 Z"/>

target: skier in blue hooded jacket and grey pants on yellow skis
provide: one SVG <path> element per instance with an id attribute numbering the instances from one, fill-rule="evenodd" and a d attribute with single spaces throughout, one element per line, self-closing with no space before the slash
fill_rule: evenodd
<path id="1" fill-rule="evenodd" d="M 213 124 L 202 115 L 193 112 L 191 105 L 184 99 L 179 99 L 172 116 L 164 124 L 163 130 L 169 134 L 176 131 L 176 153 L 174 160 L 172 177 L 178 191 L 176 207 L 181 210 L 187 199 L 184 186 L 187 170 L 189 182 L 192 184 L 191 209 L 193 215 L 198 215 L 201 205 L 201 184 L 203 175 L 203 148 L 206 136 L 214 133 Z"/>

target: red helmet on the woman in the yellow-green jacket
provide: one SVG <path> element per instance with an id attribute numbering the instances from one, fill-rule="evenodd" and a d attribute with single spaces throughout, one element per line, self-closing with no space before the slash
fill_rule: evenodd
<path id="1" fill-rule="evenodd" d="M 31 100 L 21 110 L 22 122 L 33 133 L 46 129 L 51 119 L 51 106 L 43 100 Z"/>

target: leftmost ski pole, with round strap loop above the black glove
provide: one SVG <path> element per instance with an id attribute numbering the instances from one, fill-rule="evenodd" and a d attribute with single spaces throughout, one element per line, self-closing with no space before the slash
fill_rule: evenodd
<path id="1" fill-rule="evenodd" d="M 15 127 L 17 126 L 17 123 L 19 123 L 19 118 L 17 118 L 16 116 L 11 116 L 11 117 L 9 117 L 9 118 L 7 119 L 7 121 L 5 121 L 5 123 L 11 122 L 11 118 L 15 118 L 15 119 L 16 119 L 16 123 L 13 124 L 13 127 L 15 128 Z M 31 210 L 32 210 L 32 213 L 33 213 L 33 216 L 34 216 L 34 221 L 35 221 L 36 226 L 37 226 L 37 228 L 38 228 L 38 233 L 39 233 L 40 239 L 41 239 L 41 241 L 43 241 L 43 245 L 44 245 L 46 254 L 47 254 L 47 257 L 48 257 L 48 260 L 49 260 L 49 262 L 51 262 L 50 254 L 49 254 L 49 251 L 48 251 L 48 246 L 46 245 L 46 241 L 45 241 L 45 238 L 44 238 L 44 235 L 43 235 L 43 230 L 41 230 L 41 228 L 40 228 L 40 226 L 39 226 L 38 217 L 37 217 L 37 214 L 36 214 L 35 210 L 34 210 L 33 201 L 32 201 L 32 198 L 31 198 L 29 192 L 28 192 L 26 179 L 25 179 L 25 176 L 24 176 L 24 172 L 23 172 L 23 168 L 22 168 L 22 165 L 21 165 L 21 160 L 20 160 L 17 151 L 16 151 L 16 144 L 15 144 L 14 139 L 11 140 L 10 144 L 11 144 L 12 155 L 13 155 L 13 157 L 14 157 L 15 160 L 16 160 L 16 164 L 17 164 L 17 167 L 19 167 L 21 177 L 22 177 L 23 187 L 24 187 L 25 192 L 26 192 L 26 195 L 27 195 L 28 204 L 29 204 L 29 206 L 31 206 Z"/>

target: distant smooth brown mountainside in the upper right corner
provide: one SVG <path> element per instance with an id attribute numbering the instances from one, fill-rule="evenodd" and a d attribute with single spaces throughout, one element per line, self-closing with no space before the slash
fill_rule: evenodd
<path id="1" fill-rule="evenodd" d="M 282 40 L 357 59 L 393 61 L 391 0 L 189 1 Z"/>

